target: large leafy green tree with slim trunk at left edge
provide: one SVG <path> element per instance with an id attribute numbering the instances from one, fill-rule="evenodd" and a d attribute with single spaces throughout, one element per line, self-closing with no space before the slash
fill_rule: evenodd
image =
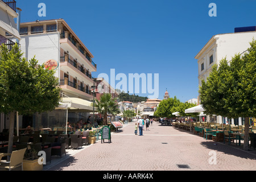
<path id="1" fill-rule="evenodd" d="M 59 81 L 55 72 L 38 65 L 38 60 L 22 58 L 17 44 L 9 51 L 0 47 L 0 112 L 8 114 L 8 152 L 13 150 L 14 117 L 54 110 L 59 105 Z"/>

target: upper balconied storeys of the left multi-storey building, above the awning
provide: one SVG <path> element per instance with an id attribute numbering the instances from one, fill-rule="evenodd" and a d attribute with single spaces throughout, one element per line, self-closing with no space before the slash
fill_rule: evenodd
<path id="1" fill-rule="evenodd" d="M 97 71 L 92 53 L 64 19 L 20 24 L 20 44 L 27 59 L 35 56 L 39 64 L 56 65 L 65 96 L 92 101 L 92 72 Z"/>

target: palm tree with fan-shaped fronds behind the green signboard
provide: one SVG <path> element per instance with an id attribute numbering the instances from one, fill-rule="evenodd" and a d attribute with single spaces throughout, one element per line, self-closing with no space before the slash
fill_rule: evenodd
<path id="1" fill-rule="evenodd" d="M 106 125 L 108 123 L 108 114 L 117 115 L 120 113 L 117 105 L 117 98 L 113 98 L 110 93 L 104 93 L 99 100 L 95 100 L 95 107 L 97 111 L 103 115 L 103 123 Z"/>

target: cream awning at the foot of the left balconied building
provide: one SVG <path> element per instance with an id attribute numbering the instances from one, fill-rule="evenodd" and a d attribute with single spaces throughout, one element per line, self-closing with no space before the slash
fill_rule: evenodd
<path id="1" fill-rule="evenodd" d="M 55 109 L 69 109 L 69 110 L 84 110 L 84 111 L 93 111 L 93 102 L 83 100 L 81 98 L 75 97 L 63 97 L 61 98 L 60 105 Z M 97 107 L 94 107 L 94 111 L 97 110 Z"/>

